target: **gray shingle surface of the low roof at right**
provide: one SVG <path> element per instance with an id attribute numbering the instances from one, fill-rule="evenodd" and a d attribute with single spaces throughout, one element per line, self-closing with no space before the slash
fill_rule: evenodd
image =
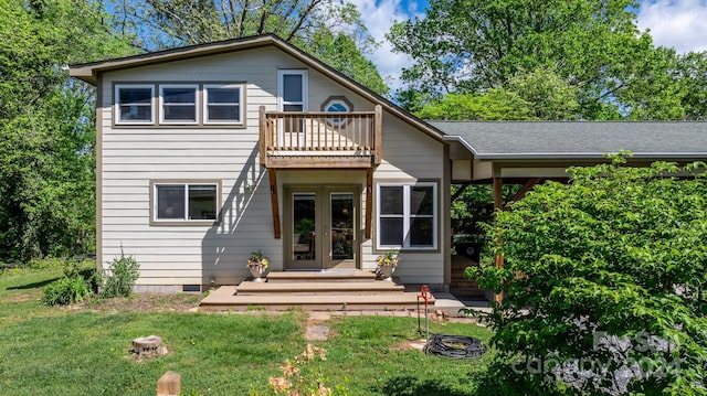
<path id="1" fill-rule="evenodd" d="M 707 122 L 428 121 L 461 137 L 478 159 L 600 158 L 630 150 L 636 158 L 707 159 Z"/>

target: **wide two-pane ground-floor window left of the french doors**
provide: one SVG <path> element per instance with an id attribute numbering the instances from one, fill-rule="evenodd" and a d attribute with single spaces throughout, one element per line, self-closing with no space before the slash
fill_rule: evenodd
<path id="1" fill-rule="evenodd" d="M 157 222 L 218 220 L 217 183 L 154 183 L 154 196 Z"/>

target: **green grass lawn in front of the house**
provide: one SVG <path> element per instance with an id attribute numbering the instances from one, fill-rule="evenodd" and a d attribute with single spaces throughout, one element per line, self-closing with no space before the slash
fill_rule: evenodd
<path id="1" fill-rule="evenodd" d="M 307 314 L 198 313 L 193 295 L 135 301 L 45 307 L 42 288 L 57 269 L 12 269 L 0 275 L 0 395 L 156 395 L 166 371 L 182 376 L 184 395 L 268 395 L 270 377 L 306 349 Z M 141 297 L 135 297 L 139 301 Z M 173 307 L 170 304 L 173 303 Z M 135 307 L 138 307 L 137 309 Z M 170 311 L 171 309 L 171 311 Z M 327 360 L 303 368 L 348 395 L 489 395 L 482 389 L 489 361 L 447 360 L 410 346 L 420 340 L 410 318 L 339 317 L 325 323 Z M 490 333 L 469 323 L 432 322 L 431 332 Z M 166 356 L 138 362 L 131 341 L 156 334 Z M 312 374 L 312 375 L 315 375 Z"/>

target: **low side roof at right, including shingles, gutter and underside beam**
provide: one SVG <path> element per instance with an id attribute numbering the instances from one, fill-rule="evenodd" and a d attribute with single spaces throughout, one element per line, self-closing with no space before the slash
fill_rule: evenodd
<path id="1" fill-rule="evenodd" d="M 461 164 L 453 181 L 494 178 L 563 178 L 571 165 L 606 161 L 606 153 L 631 151 L 631 163 L 707 160 L 707 122 L 636 121 L 430 121 L 452 143 Z M 464 162 L 468 161 L 468 162 Z M 468 163 L 471 170 L 462 172 Z M 463 173 L 471 173 L 464 178 Z"/>

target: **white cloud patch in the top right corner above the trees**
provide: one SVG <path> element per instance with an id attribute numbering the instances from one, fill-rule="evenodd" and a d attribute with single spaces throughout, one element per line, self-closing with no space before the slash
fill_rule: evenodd
<path id="1" fill-rule="evenodd" d="M 650 29 L 653 43 L 678 53 L 707 51 L 707 1 L 645 0 L 637 11 L 639 29 Z"/>

